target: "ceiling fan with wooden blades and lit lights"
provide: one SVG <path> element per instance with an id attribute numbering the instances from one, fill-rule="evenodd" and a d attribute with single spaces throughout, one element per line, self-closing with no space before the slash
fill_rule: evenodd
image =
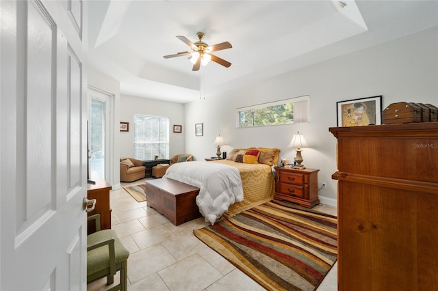
<path id="1" fill-rule="evenodd" d="M 177 36 L 177 38 L 181 40 L 181 42 L 184 42 L 185 44 L 190 46 L 190 48 L 192 48 L 192 51 L 183 51 L 180 53 L 176 53 L 175 55 L 165 55 L 164 59 L 188 55 L 190 61 L 193 64 L 193 71 L 198 71 L 201 67 L 201 64 L 205 66 L 210 60 L 226 68 L 231 66 L 231 63 L 229 61 L 225 61 L 224 59 L 221 59 L 220 57 L 216 57 L 216 55 L 211 54 L 211 52 L 213 51 L 221 51 L 223 49 L 232 48 L 233 46 L 231 46 L 229 42 L 221 42 L 220 44 L 214 44 L 213 46 L 209 46 L 208 44 L 203 42 L 203 38 L 205 36 L 203 32 L 196 33 L 196 36 L 198 36 L 199 39 L 197 42 L 191 42 L 185 36 Z"/>

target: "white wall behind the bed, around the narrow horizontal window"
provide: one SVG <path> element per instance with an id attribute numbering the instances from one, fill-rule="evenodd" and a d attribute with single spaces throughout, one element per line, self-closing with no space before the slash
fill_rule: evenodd
<path id="1" fill-rule="evenodd" d="M 334 204 L 337 170 L 336 139 L 329 127 L 337 126 L 336 102 L 383 96 L 383 109 L 394 102 L 438 105 L 438 28 L 324 61 L 255 85 L 233 89 L 185 105 L 185 148 L 202 160 L 214 156 L 220 134 L 231 148 L 249 146 L 280 148 L 280 156 L 293 160 L 286 148 L 297 130 L 311 148 L 302 152 L 303 165 L 320 169 L 319 182 L 328 189 L 319 193 L 323 203 Z M 238 60 L 235 60 L 238 61 Z M 310 122 L 258 128 L 235 128 L 235 109 L 296 96 L 310 96 Z M 204 124 L 204 136 L 195 137 L 194 124 Z M 400 161 L 403 163 L 403 161 Z"/>

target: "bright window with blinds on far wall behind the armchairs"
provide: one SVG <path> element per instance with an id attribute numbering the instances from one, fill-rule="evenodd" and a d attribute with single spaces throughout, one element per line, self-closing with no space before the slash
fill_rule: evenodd
<path id="1" fill-rule="evenodd" d="M 134 115 L 134 158 L 169 158 L 169 118 Z"/>

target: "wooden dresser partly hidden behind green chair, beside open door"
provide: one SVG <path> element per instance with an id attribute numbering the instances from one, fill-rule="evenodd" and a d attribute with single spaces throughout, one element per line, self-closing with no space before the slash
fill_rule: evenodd
<path id="1" fill-rule="evenodd" d="M 112 186 L 107 181 L 92 177 L 96 184 L 87 184 L 87 197 L 88 199 L 96 199 L 96 207 L 88 216 L 92 214 L 101 214 L 101 229 L 111 229 L 111 208 L 110 208 L 110 190 Z M 88 222 L 88 234 L 92 234 L 96 231 L 94 221 Z"/>

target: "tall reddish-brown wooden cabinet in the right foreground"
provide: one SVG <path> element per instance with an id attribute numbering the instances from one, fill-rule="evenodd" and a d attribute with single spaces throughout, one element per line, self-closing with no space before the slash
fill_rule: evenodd
<path id="1" fill-rule="evenodd" d="M 438 290 L 438 122 L 329 130 L 338 290 Z"/>

